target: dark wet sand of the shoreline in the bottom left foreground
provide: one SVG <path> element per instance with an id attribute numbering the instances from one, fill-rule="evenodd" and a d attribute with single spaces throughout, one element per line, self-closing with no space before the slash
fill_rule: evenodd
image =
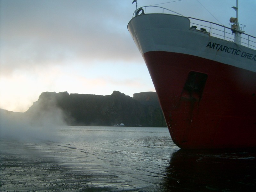
<path id="1" fill-rule="evenodd" d="M 117 175 L 99 170 L 95 157 L 86 152 L 74 158 L 68 153 L 72 147 L 49 150 L 50 143 L 1 140 L 0 191 L 137 191 Z"/>

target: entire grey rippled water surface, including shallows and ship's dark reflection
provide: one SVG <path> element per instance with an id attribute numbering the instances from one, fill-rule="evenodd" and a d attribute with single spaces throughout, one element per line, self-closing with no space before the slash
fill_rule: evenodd
<path id="1" fill-rule="evenodd" d="M 167 128 L 60 127 L 0 140 L 0 191 L 256 191 L 256 153 L 180 150 Z"/>

